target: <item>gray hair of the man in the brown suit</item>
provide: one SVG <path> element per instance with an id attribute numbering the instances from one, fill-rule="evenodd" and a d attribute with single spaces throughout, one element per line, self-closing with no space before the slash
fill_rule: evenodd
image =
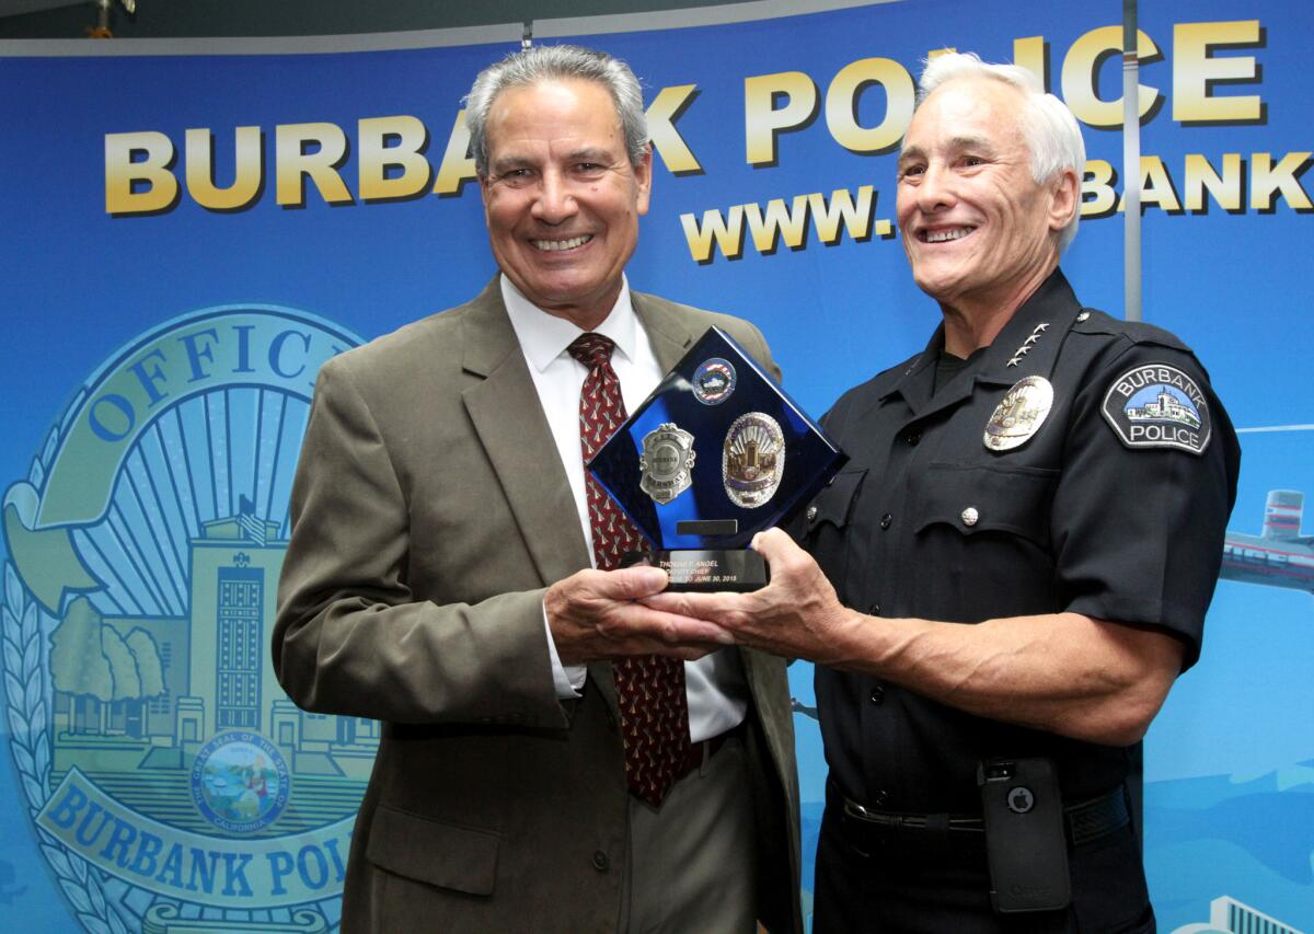
<path id="1" fill-rule="evenodd" d="M 629 66 L 606 53 L 579 46 L 532 46 L 481 71 L 465 96 L 465 126 L 470 131 L 474 169 L 481 176 L 486 177 L 489 171 L 487 122 L 497 96 L 507 88 L 570 79 L 597 81 L 607 89 L 625 135 L 629 163 L 637 167 L 643 162 L 648 151 L 648 117 L 639 79 Z"/>

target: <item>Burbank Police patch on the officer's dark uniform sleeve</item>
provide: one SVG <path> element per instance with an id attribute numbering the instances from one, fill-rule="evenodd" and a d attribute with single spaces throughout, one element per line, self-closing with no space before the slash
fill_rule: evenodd
<path id="1" fill-rule="evenodd" d="M 1168 364 L 1129 369 L 1109 385 L 1100 411 L 1129 448 L 1198 455 L 1209 447 L 1209 402 L 1200 384 Z"/>

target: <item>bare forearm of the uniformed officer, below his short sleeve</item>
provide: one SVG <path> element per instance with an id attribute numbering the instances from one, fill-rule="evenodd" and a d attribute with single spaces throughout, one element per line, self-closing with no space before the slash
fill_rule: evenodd
<path id="1" fill-rule="evenodd" d="M 833 667 L 968 713 L 1105 745 L 1137 742 L 1163 704 L 1181 644 L 1160 632 L 1047 613 L 976 625 L 850 611 Z"/>

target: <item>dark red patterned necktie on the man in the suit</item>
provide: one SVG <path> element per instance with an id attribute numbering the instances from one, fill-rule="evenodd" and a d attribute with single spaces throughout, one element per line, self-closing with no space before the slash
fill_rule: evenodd
<path id="1" fill-rule="evenodd" d="M 625 420 L 620 380 L 611 368 L 615 343 L 600 334 L 582 334 L 570 356 L 589 368 L 579 390 L 579 447 L 589 458 Z M 643 537 L 606 490 L 585 470 L 593 556 L 599 570 L 611 570 Z M 629 793 L 660 807 L 690 757 L 689 701 L 685 663 L 665 656 L 631 656 L 612 663 L 620 701 L 620 732 L 625 745 Z"/>

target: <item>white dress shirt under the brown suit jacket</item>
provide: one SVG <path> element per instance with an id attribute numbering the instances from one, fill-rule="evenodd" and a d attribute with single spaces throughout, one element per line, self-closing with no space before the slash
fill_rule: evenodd
<path id="1" fill-rule="evenodd" d="M 561 455 L 570 493 L 579 514 L 579 531 L 590 544 L 593 561 L 593 529 L 589 524 L 589 500 L 585 493 L 583 455 L 579 449 L 579 390 L 587 368 L 566 349 L 583 331 L 565 318 L 543 311 L 506 276 L 501 276 L 502 301 L 515 328 L 520 351 L 530 365 L 533 388 L 539 393 L 543 414 L 547 415 L 552 437 Z M 648 340 L 648 332 L 639 323 L 629 301 L 629 282 L 623 277 L 620 296 L 595 334 L 611 338 L 616 349 L 611 355 L 611 368 L 620 380 L 620 394 L 625 411 L 632 412 L 665 376 Z M 548 625 L 547 610 L 543 624 Z M 557 696 L 578 698 L 587 669 L 583 665 L 562 666 L 548 627 L 548 653 Z M 685 686 L 689 695 L 690 740 L 699 742 L 720 736 L 742 723 L 748 711 L 748 684 L 740 666 L 738 653 L 720 649 L 696 662 L 685 662 Z"/>

